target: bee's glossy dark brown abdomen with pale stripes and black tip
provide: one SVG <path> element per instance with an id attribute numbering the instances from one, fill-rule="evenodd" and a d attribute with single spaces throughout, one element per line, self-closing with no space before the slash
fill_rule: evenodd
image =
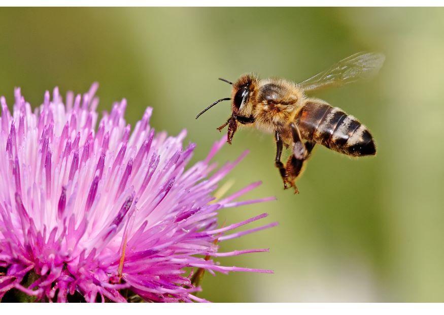
<path id="1" fill-rule="evenodd" d="M 295 122 L 303 139 L 347 155 L 376 153 L 373 137 L 365 125 L 337 107 L 309 101 L 299 110 Z"/>

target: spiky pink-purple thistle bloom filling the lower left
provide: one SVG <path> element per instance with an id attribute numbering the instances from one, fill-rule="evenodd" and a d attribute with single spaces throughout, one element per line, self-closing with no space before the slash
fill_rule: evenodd
<path id="1" fill-rule="evenodd" d="M 65 104 L 31 106 L 15 89 L 13 113 L 0 99 L 0 299 L 11 289 L 44 301 L 126 302 L 123 291 L 147 301 L 204 301 L 186 267 L 227 273 L 270 270 L 225 267 L 213 261 L 268 249 L 218 252 L 218 241 L 240 237 L 276 223 L 232 230 L 264 218 L 217 227 L 224 208 L 274 198 L 236 201 L 259 183 L 215 201 L 221 179 L 242 159 L 217 169 L 205 160 L 185 169 L 194 144 L 154 133 L 152 109 L 130 125 L 126 101 L 115 103 L 98 123 L 97 84 Z M 212 202 L 213 201 L 213 202 Z M 229 232 L 229 233 L 227 233 Z"/>

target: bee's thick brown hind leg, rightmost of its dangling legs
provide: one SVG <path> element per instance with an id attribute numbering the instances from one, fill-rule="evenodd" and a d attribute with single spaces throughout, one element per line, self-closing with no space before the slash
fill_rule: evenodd
<path id="1" fill-rule="evenodd" d="M 286 165 L 286 173 L 288 181 L 294 187 L 294 193 L 299 194 L 299 190 L 295 184 L 296 178 L 300 175 L 303 164 L 309 158 L 310 153 L 315 146 L 314 142 L 306 141 L 302 143 L 299 130 L 294 123 L 290 124 L 291 134 L 293 136 L 293 154 L 289 157 Z"/>

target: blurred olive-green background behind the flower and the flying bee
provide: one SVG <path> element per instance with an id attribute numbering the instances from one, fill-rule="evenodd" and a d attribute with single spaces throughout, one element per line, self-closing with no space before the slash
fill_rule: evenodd
<path id="1" fill-rule="evenodd" d="M 300 195 L 283 191 L 271 135 L 236 133 L 216 160 L 250 154 L 230 174 L 232 188 L 263 185 L 245 198 L 278 201 L 225 210 L 236 222 L 269 212 L 280 225 L 226 241 L 222 250 L 270 253 L 221 259 L 274 275 L 207 274 L 201 297 L 216 302 L 444 301 L 444 10 L 440 8 L 3 8 L 0 94 L 21 86 L 32 105 L 56 85 L 62 93 L 100 83 L 100 110 L 128 100 L 127 120 L 154 107 L 152 125 L 188 130 L 203 159 L 246 72 L 294 81 L 355 52 L 386 62 L 367 83 L 316 96 L 358 117 L 378 145 L 352 160 L 318 147 Z M 262 224 L 267 223 L 262 222 Z"/>

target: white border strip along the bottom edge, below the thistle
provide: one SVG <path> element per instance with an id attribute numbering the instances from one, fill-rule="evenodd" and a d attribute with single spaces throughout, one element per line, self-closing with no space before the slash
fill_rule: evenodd
<path id="1" fill-rule="evenodd" d="M 254 312 L 259 314 L 340 314 L 340 315 L 381 315 L 381 314 L 442 314 L 444 304 L 441 303 L 134 303 L 134 304 L 49 304 L 49 303 L 21 303 L 0 304 L 2 313 L 17 313 L 23 311 L 33 315 L 63 314 L 83 315 L 97 314 L 100 311 L 106 315 L 130 314 L 173 314 L 173 315 L 227 315 L 248 314 Z M 140 312 L 137 312 L 140 311 Z"/>

